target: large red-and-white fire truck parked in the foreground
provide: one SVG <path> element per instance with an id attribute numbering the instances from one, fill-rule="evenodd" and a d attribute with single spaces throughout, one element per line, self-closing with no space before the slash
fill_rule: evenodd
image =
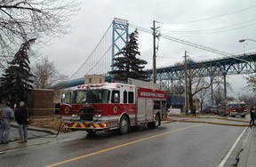
<path id="1" fill-rule="evenodd" d="M 83 84 L 61 91 L 60 115 L 63 126 L 89 134 L 118 130 L 126 134 L 131 126 L 161 125 L 166 112 L 166 91 L 156 83 L 128 79 L 128 83 Z"/>

